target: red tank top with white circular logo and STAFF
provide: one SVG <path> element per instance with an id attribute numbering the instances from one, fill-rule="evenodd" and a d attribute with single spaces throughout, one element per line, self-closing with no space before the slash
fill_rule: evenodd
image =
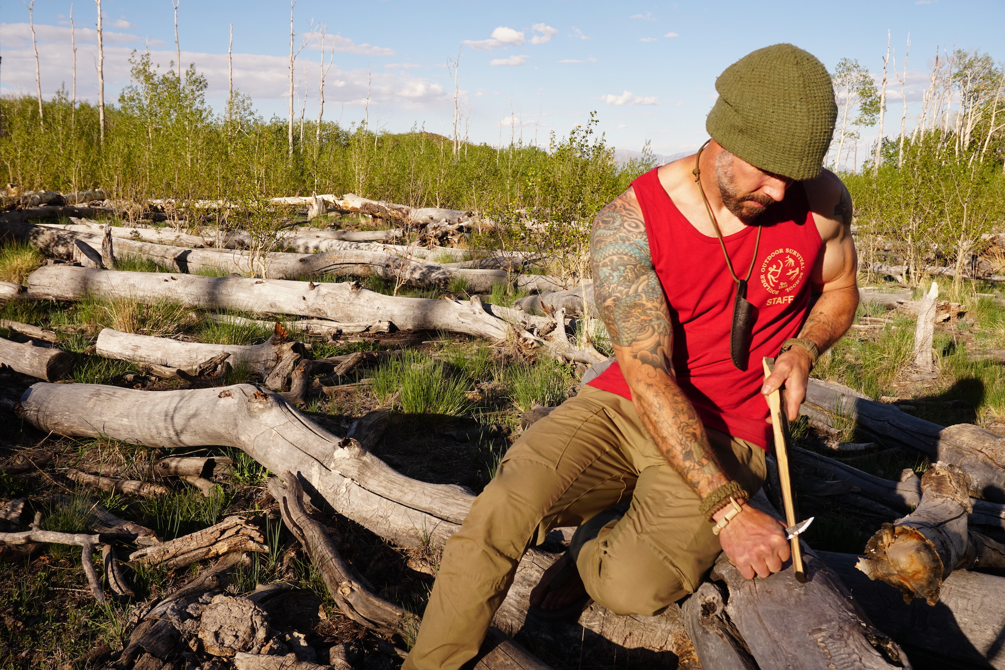
<path id="1" fill-rule="evenodd" d="M 645 220 L 656 276 L 673 324 L 676 381 L 701 422 L 767 450 L 771 426 L 761 395 L 761 358 L 777 356 L 782 342 L 797 337 L 810 304 L 810 272 L 823 242 L 801 183 L 786 191 L 758 223 L 763 227 L 747 300 L 756 310 L 750 362 L 738 370 L 730 357 L 730 329 L 736 283 L 716 237 L 691 225 L 659 183 L 653 169 L 632 182 Z M 730 260 L 743 279 L 757 237 L 748 226 L 724 238 Z M 589 382 L 631 399 L 617 362 Z"/>

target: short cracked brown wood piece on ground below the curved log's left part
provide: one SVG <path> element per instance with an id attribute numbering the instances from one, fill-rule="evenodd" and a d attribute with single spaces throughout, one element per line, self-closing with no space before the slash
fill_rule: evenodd
<path id="1" fill-rule="evenodd" d="M 163 564 L 170 569 L 234 551 L 267 553 L 268 547 L 263 542 L 261 529 L 248 517 L 235 514 L 209 528 L 138 549 L 129 559 L 147 565 Z"/>

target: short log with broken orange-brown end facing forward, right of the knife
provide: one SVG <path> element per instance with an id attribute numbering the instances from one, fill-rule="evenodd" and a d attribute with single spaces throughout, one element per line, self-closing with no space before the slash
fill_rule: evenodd
<path id="1" fill-rule="evenodd" d="M 943 580 L 955 569 L 1005 567 L 1005 547 L 968 531 L 973 510 L 967 475 L 935 465 L 922 477 L 922 501 L 910 515 L 884 523 L 865 545 L 856 567 L 903 592 L 906 602 L 939 602 Z"/>

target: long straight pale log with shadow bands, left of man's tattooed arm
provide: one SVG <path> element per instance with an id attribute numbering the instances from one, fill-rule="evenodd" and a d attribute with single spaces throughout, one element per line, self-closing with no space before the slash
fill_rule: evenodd
<path id="1" fill-rule="evenodd" d="M 506 322 L 488 314 L 480 303 L 385 296 L 352 282 L 312 284 L 43 266 L 31 274 L 28 285 L 31 295 L 41 300 L 80 300 L 92 295 L 153 303 L 170 292 L 183 305 L 206 309 L 296 314 L 350 323 L 391 321 L 402 330 L 444 330 L 492 340 L 504 339 L 508 331 Z"/>

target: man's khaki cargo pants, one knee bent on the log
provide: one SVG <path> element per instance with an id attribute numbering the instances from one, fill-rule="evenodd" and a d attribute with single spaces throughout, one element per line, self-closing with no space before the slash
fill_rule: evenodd
<path id="1" fill-rule="evenodd" d="M 726 472 L 751 494 L 759 490 L 764 450 L 708 432 Z M 632 402 L 584 386 L 514 444 L 447 540 L 404 670 L 454 670 L 473 658 L 524 552 L 553 528 L 627 501 L 624 517 L 583 545 L 577 566 L 598 604 L 652 616 L 697 588 L 722 550 L 719 538 Z"/>

